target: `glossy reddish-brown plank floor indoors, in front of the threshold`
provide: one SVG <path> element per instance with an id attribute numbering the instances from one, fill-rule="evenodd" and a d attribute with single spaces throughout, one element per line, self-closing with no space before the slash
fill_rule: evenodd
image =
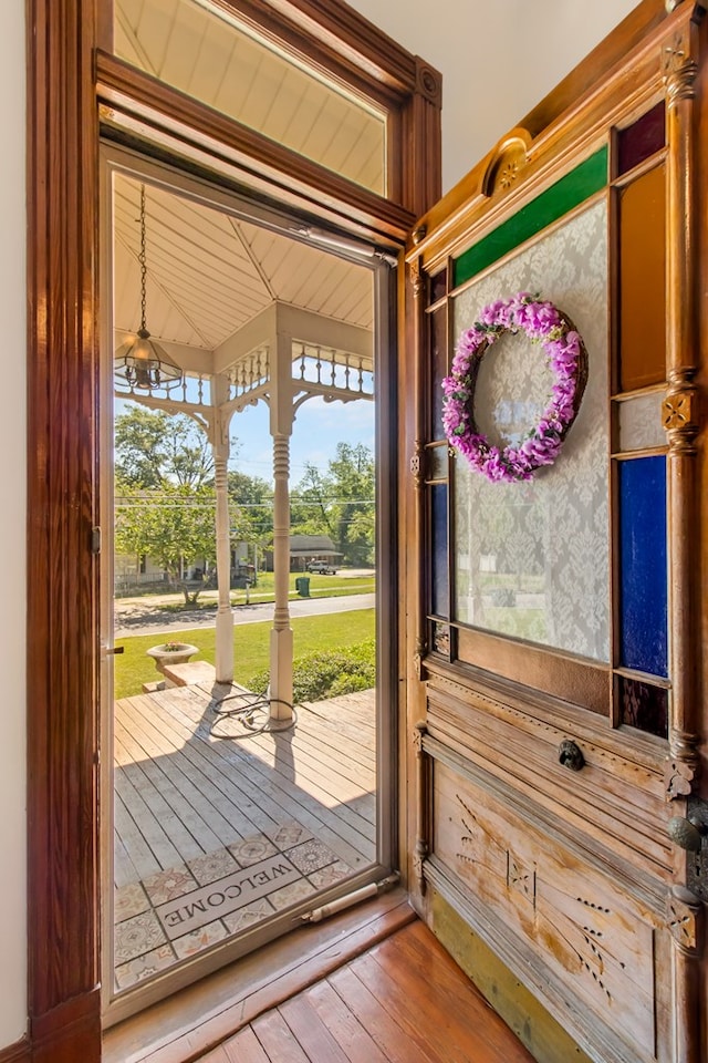
<path id="1" fill-rule="evenodd" d="M 532 1063 L 419 921 L 243 1026 L 199 1063 Z"/>

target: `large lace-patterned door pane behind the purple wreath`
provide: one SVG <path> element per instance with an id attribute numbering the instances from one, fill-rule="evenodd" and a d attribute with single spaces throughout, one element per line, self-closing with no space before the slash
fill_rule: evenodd
<path id="1" fill-rule="evenodd" d="M 579 416 L 553 466 L 529 483 L 490 484 L 456 458 L 454 616 L 600 661 L 610 660 L 606 234 L 603 200 L 470 286 L 454 307 L 457 336 L 487 303 L 540 290 L 575 322 L 590 360 Z M 525 403 L 538 402 L 544 380 L 539 348 L 523 336 L 508 342 L 513 358 L 497 367 L 493 349 L 488 355 L 492 372 L 480 381 L 476 410 L 487 424 L 494 410 L 506 415 L 504 403 L 517 403 L 509 413 L 528 426 L 535 414 Z M 510 427 L 497 425 L 502 436 Z"/>

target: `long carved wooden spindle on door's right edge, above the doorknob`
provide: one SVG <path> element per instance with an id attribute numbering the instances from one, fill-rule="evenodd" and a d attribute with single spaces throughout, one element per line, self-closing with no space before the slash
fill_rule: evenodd
<path id="1" fill-rule="evenodd" d="M 697 11 L 697 9 L 696 9 Z M 670 618 L 673 682 L 667 764 L 668 801 L 690 793 L 699 772 L 699 694 L 697 689 L 698 556 L 698 238 L 696 142 L 698 114 L 698 25 L 687 20 L 662 48 L 668 144 L 667 380 L 662 420 L 668 443 L 668 537 L 674 601 Z"/>

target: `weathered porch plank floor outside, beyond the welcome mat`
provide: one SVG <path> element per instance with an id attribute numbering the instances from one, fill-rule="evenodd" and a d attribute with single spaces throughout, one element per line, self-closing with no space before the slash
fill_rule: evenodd
<path id="1" fill-rule="evenodd" d="M 202 687 L 116 703 L 116 887 L 292 819 L 351 868 L 372 863 L 373 691 L 301 708 L 293 731 L 229 741 L 209 734 L 212 706 Z"/>

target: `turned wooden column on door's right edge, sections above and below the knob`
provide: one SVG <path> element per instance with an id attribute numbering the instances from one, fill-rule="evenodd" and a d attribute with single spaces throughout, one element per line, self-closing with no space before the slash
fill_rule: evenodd
<path id="1" fill-rule="evenodd" d="M 698 239 L 696 223 L 696 78 L 698 27 L 686 21 L 664 45 L 667 103 L 667 380 L 663 419 L 668 441 L 668 540 L 670 557 L 670 755 L 667 799 L 691 793 L 699 772 L 699 606 L 696 578 L 698 522 Z M 677 850 L 676 885 L 668 899 L 674 942 L 674 1060 L 702 1060 L 700 956 L 702 905 L 686 881 L 690 854 Z"/>

